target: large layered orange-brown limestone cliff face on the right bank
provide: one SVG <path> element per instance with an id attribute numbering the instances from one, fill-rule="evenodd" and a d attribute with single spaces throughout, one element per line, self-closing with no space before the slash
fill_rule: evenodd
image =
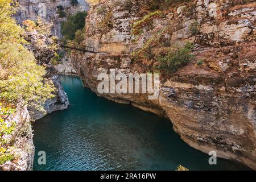
<path id="1" fill-rule="evenodd" d="M 97 94 L 168 117 L 190 146 L 256 169 L 256 2 L 183 3 L 154 18 L 140 35 L 131 34 L 131 24 L 147 14 L 144 2 L 130 2 L 113 6 L 104 1 L 90 10 L 83 44 L 100 53 L 72 54 L 84 85 L 97 93 L 98 74 L 113 68 L 126 74 L 152 71 L 154 59 L 130 56 L 152 36 L 159 36 L 152 45 L 156 56 L 174 44 L 193 42 L 193 55 L 204 64 L 194 60 L 171 76 L 162 75 L 158 100 L 143 94 Z"/>

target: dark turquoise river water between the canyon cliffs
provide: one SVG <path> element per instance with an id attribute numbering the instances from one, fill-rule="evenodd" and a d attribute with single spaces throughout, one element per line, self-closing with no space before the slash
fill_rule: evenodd
<path id="1" fill-rule="evenodd" d="M 247 169 L 185 144 L 168 119 L 97 97 L 79 77 L 60 76 L 71 106 L 34 123 L 34 170 Z M 46 165 L 39 165 L 39 151 Z"/>

